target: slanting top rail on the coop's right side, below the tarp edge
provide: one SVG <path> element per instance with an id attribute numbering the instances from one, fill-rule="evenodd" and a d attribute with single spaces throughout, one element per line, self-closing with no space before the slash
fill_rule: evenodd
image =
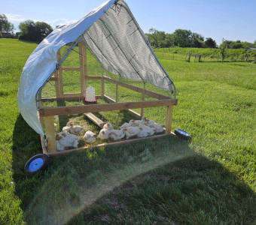
<path id="1" fill-rule="evenodd" d="M 156 92 L 151 92 L 151 91 L 148 91 L 148 90 L 144 90 L 144 89 L 141 89 L 139 87 L 136 87 L 136 86 L 132 86 L 130 84 L 127 84 L 127 83 L 123 83 L 123 82 L 120 82 L 118 80 L 114 80 L 110 77 L 104 77 L 105 80 L 111 82 L 111 83 L 115 83 L 115 84 L 118 84 L 119 86 L 122 86 L 126 89 L 130 89 L 130 90 L 133 90 L 134 92 L 139 92 L 139 93 L 143 93 L 145 92 L 145 95 L 148 95 L 149 97 L 151 98 L 156 98 L 158 100 L 161 100 L 161 99 L 166 99 L 166 98 L 170 98 L 166 95 L 161 95 L 161 94 L 158 94 Z"/>

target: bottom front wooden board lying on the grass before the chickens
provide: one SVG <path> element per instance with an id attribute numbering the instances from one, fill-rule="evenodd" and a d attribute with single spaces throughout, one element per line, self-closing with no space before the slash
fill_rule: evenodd
<path id="1" fill-rule="evenodd" d="M 91 146 L 82 147 L 82 148 L 73 148 L 73 149 L 66 150 L 66 151 L 56 151 L 56 152 L 49 153 L 49 154 L 50 155 L 69 154 L 69 153 L 72 153 L 75 151 L 89 150 L 91 148 L 108 147 L 108 146 L 114 146 L 114 145 L 128 145 L 133 142 L 139 142 L 139 141 L 143 141 L 146 139 L 163 138 L 166 136 L 175 136 L 175 133 L 158 134 L 158 135 L 154 135 L 154 136 L 147 136 L 147 137 L 142 137 L 142 138 L 137 138 L 137 139 L 127 139 L 127 140 L 121 140 L 118 142 L 110 142 L 110 143 L 104 143 L 104 144 L 99 144 L 99 145 L 91 145 Z"/>

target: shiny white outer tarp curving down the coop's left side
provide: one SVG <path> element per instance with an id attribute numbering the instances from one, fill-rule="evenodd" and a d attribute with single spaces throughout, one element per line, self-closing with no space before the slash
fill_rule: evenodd
<path id="1" fill-rule="evenodd" d="M 36 93 L 56 68 L 58 49 L 66 43 L 75 41 L 102 17 L 113 3 L 114 0 L 106 1 L 81 20 L 56 28 L 29 56 L 20 77 L 17 104 L 23 118 L 37 133 L 44 136 L 44 130 L 38 120 Z"/>

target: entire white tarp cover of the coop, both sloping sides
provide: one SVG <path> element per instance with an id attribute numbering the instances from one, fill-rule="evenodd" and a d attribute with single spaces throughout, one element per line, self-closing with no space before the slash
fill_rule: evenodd
<path id="1" fill-rule="evenodd" d="M 172 91 L 172 80 L 158 62 L 129 7 L 123 0 L 106 1 L 81 20 L 56 28 L 32 52 L 23 68 L 17 104 L 29 126 L 41 135 L 44 130 L 37 115 L 37 92 L 53 74 L 59 48 L 81 35 L 107 71 Z"/>

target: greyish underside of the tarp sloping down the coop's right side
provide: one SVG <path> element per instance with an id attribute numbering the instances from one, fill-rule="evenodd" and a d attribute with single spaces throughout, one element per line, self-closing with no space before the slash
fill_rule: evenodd
<path id="1" fill-rule="evenodd" d="M 123 1 L 118 1 L 93 23 L 84 39 L 93 55 L 112 74 L 172 91 L 172 81 L 154 57 L 145 35 Z"/>

